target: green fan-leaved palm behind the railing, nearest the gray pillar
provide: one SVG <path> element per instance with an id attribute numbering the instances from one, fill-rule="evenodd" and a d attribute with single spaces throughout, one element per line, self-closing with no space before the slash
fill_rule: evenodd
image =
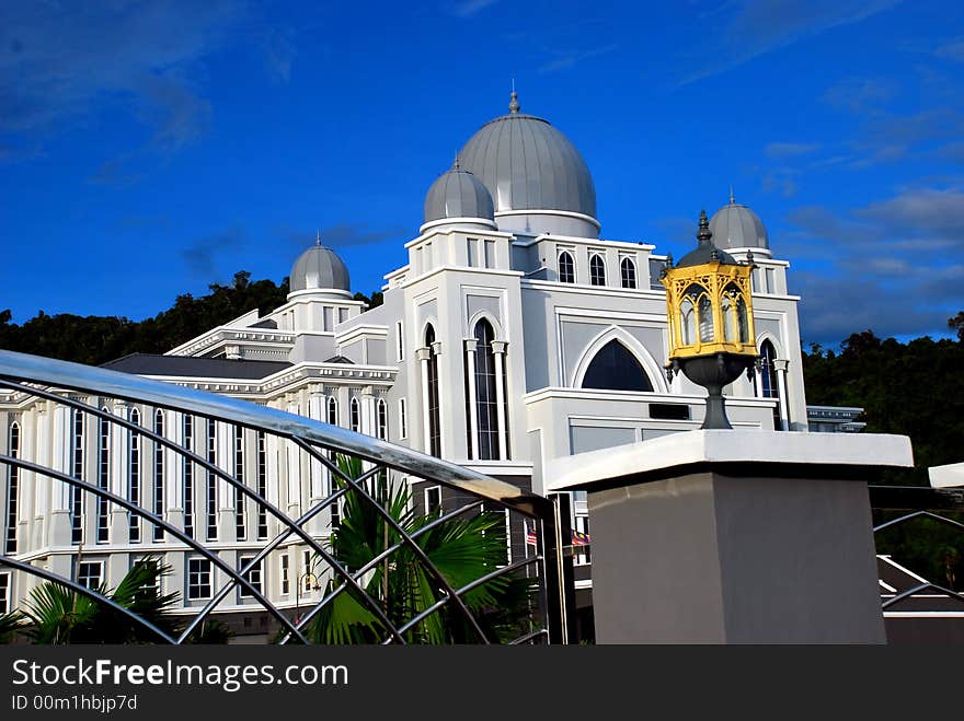
<path id="1" fill-rule="evenodd" d="M 349 478 L 358 478 L 363 473 L 357 458 L 338 456 L 337 464 Z M 440 510 L 428 515 L 416 514 L 406 484 L 389 484 L 382 476 L 364 481 L 363 487 L 409 535 L 441 515 Z M 367 567 L 400 539 L 399 533 L 362 493 L 355 490 L 345 493 L 341 525 L 332 531 L 330 539 L 330 551 L 342 566 L 349 570 Z M 505 563 L 505 516 L 478 513 L 450 519 L 426 531 L 416 543 L 446 581 L 459 589 Z M 397 628 L 444 596 L 441 584 L 408 545 L 367 571 L 360 585 Z M 326 591 L 335 588 L 332 580 Z M 529 612 L 530 593 L 528 579 L 501 575 L 463 594 L 462 600 L 486 636 L 500 638 L 505 632 L 518 635 L 519 618 Z M 307 629 L 308 637 L 319 643 L 372 643 L 388 632 L 382 620 L 353 589 L 338 594 Z M 472 642 L 478 640 L 478 635 L 450 602 L 406 631 L 405 640 L 410 643 Z"/>

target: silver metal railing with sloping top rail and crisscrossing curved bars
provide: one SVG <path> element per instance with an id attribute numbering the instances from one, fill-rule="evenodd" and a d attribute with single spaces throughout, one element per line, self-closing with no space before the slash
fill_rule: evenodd
<path id="1" fill-rule="evenodd" d="M 553 502 L 546 498 L 526 492 L 516 486 L 498 481 L 471 469 L 344 428 L 228 396 L 204 393 L 172 383 L 152 381 L 100 368 L 0 351 L 0 389 L 5 389 L 11 394 L 12 406 L 18 404 L 23 406 L 31 398 L 46 400 L 58 406 L 66 406 L 74 412 L 99 418 L 101 422 L 120 427 L 126 430 L 127 434 L 136 433 L 137 437 L 152 442 L 156 453 L 159 453 L 160 449 L 170 450 L 183 458 L 184 463 L 194 464 L 197 468 L 226 482 L 233 489 L 233 493 L 238 495 L 238 498 L 250 499 L 255 508 L 261 509 L 264 514 L 275 520 L 274 537 L 263 539 L 263 545 L 252 558 L 246 559 L 243 565 L 234 566 L 226 560 L 217 548 L 208 547 L 205 542 L 195 537 L 199 534 L 185 532 L 183 523 L 172 522 L 170 519 L 163 518 L 163 514 L 158 514 L 146 508 L 149 505 L 149 499 L 145 503 L 131 501 L 124 493 L 110 490 L 110 485 L 104 488 L 102 485 L 85 479 L 83 474 L 66 473 L 53 467 L 56 465 L 54 463 L 45 465 L 39 463 L 37 458 L 24 457 L 24 453 L 0 454 L 0 464 L 5 464 L 10 468 L 19 468 L 21 478 L 25 474 L 34 474 L 37 484 L 39 484 L 41 477 L 67 484 L 71 489 L 74 489 L 72 492 L 91 495 L 103 499 L 105 503 L 115 504 L 129 514 L 137 515 L 162 528 L 164 533 L 183 544 L 182 546 L 168 543 L 145 543 L 136 547 L 131 545 L 119 553 L 133 554 L 150 549 L 161 554 L 190 553 L 199 555 L 227 578 L 227 582 L 216 592 L 211 588 L 210 598 L 202 607 L 185 605 L 184 610 L 193 614 L 193 617 L 180 633 L 175 635 L 162 630 L 150 620 L 137 617 L 97 589 L 88 588 L 77 579 L 54 573 L 24 560 L 31 549 L 19 548 L 19 553 L 8 555 L 5 547 L 3 548 L 4 554 L 0 555 L 0 566 L 54 581 L 74 593 L 105 604 L 133 623 L 139 624 L 158 641 L 186 642 L 192 638 L 192 633 L 211 617 L 211 614 L 218 609 L 225 598 L 236 590 L 243 589 L 248 596 L 253 597 L 277 621 L 282 629 L 278 637 L 282 643 L 292 640 L 307 643 L 312 640 L 308 632 L 312 628 L 312 623 L 317 624 L 317 619 L 321 618 L 320 615 L 325 609 L 333 607 L 333 604 L 337 603 L 343 594 L 348 594 L 364 605 L 371 617 L 377 619 L 375 627 L 381 629 L 382 638 L 380 641 L 382 643 L 417 642 L 422 638 L 417 633 L 420 625 L 426 623 L 435 614 L 448 614 L 449 618 L 461 619 L 470 629 L 475 641 L 490 643 L 497 639 L 493 638 L 491 631 L 483 628 L 479 608 L 470 608 L 470 603 L 467 600 L 471 597 L 473 591 L 486 588 L 486 584 L 492 584 L 496 580 L 525 574 L 530 579 L 531 588 L 535 588 L 535 597 L 530 598 L 528 605 L 528 618 L 516 627 L 518 633 L 514 638 L 503 638 L 502 640 L 514 643 L 565 642 L 564 619 L 566 613 L 565 594 L 562 592 L 560 583 L 563 562 L 562 555 L 559 553 L 561 548 L 559 511 Z M 97 404 L 84 403 L 68 395 L 77 393 L 95 396 Z M 287 441 L 294 444 L 300 453 L 306 454 L 309 463 L 326 469 L 332 479 L 330 492 L 325 498 L 311 504 L 310 508 L 299 508 L 300 515 L 291 518 L 278 508 L 278 504 L 265 497 L 269 493 L 256 492 L 256 489 L 251 487 L 250 479 L 245 482 L 244 479 L 239 479 L 234 474 L 226 470 L 222 467 L 223 464 L 218 465 L 208 457 L 185 447 L 184 444 L 167 438 L 163 433 L 151 430 L 148 427 L 150 415 L 145 414 L 145 425 L 133 422 L 123 416 L 102 409 L 104 398 L 206 418 L 242 429 L 253 429 L 256 432 Z M 0 407 L 0 410 L 3 408 Z M 60 441 L 68 442 L 64 439 Z M 362 462 L 363 472 L 360 474 L 349 473 L 346 468 L 348 464 L 338 463 L 336 458 L 357 458 Z M 451 489 L 460 498 L 468 496 L 472 500 L 462 502 L 452 510 L 425 518 L 416 526 L 405 527 L 397 518 L 397 512 L 393 514 L 391 509 L 385 508 L 377 500 L 376 496 L 383 496 L 383 493 L 375 492 L 386 484 L 402 482 L 401 478 L 408 479 L 405 482 L 409 484 L 431 481 L 433 485 L 437 484 Z M 268 484 L 278 485 L 279 482 L 279 478 L 268 479 Z M 354 497 L 355 502 L 368 504 L 368 508 L 381 519 L 386 534 L 386 542 L 380 550 L 367 563 L 353 569 L 346 568 L 342 559 L 338 558 L 331 542 L 330 530 L 325 533 L 318 533 L 317 530 L 311 533 L 307 528 L 309 522 L 319 518 L 325 509 L 334 507 L 340 502 L 340 499 L 344 501 L 348 497 Z M 523 519 L 526 524 L 532 524 L 538 528 L 538 544 L 531 556 L 528 556 L 529 546 L 524 545 L 528 557 L 494 565 L 479 578 L 459 579 L 459 582 L 455 583 L 446 577 L 437 563 L 433 562 L 421 542 L 429 538 L 433 532 L 446 527 L 446 524 L 473 516 L 481 511 L 483 504 L 485 511 L 492 511 L 493 508 L 496 508 L 503 510 L 510 519 Z M 509 523 L 507 525 L 512 528 L 518 524 Z M 323 597 L 310 605 L 303 614 L 300 614 L 300 609 L 296 607 L 297 617 L 292 617 L 290 603 L 272 601 L 269 598 L 272 594 L 265 593 L 259 588 L 261 583 L 252 582 L 250 577 L 253 570 L 262 568 L 261 563 L 273 551 L 279 549 L 282 544 L 291 538 L 300 544 L 299 548 L 313 554 L 330 578 Z M 391 538 L 391 543 L 389 543 L 389 538 Z M 523 543 L 525 544 L 525 542 Z M 66 553 L 71 550 L 79 553 L 78 548 L 70 545 L 66 545 L 65 548 Z M 57 550 L 65 553 L 65 548 Z M 367 582 L 370 581 L 376 570 L 380 570 L 387 575 L 393 557 L 403 549 L 408 554 L 408 562 L 420 563 L 424 578 L 428 579 L 432 603 L 426 602 L 423 604 L 424 607 L 414 608 L 411 617 L 398 618 L 389 613 L 388 600 L 385 594 L 372 593 L 370 583 Z M 244 544 L 244 550 L 252 550 L 250 543 Z M 300 583 L 297 574 L 295 582 Z M 387 591 L 388 586 L 386 585 Z"/>

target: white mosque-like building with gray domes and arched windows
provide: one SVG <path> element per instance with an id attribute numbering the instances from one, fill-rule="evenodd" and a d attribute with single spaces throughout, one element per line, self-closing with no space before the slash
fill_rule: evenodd
<path id="1" fill-rule="evenodd" d="M 319 243 L 295 261 L 280 307 L 251 311 L 165 354 L 106 367 L 336 423 L 537 493 L 549 460 L 698 428 L 704 389 L 664 372 L 658 274 L 666 257 L 644 242 L 601 239 L 583 156 L 548 120 L 524 114 L 515 93 L 508 109 L 431 184 L 424 223 L 405 244 L 409 261 L 385 276 L 382 305 L 353 300 L 348 269 Z M 731 421 L 805 431 L 800 299 L 787 289 L 789 264 L 771 253 L 756 213 L 732 197 L 710 228 L 718 247 L 738 260 L 751 254 L 757 266 L 762 362 L 755 377 L 728 387 Z M 114 400 L 106 407 L 240 469 L 295 515 L 326 493 L 324 474 L 271 437 Z M 847 409 L 819 412 L 825 425 L 857 427 Z M 238 563 L 268 537 L 265 519 L 236 505 L 227 487 L 96 418 L 0 392 L 0 437 L 3 452 L 97 479 Z M 107 503 L 81 501 L 25 472 L 0 473 L 8 554 L 112 585 L 134 559 L 163 553 L 174 567 L 165 590 L 180 591 L 186 605 L 217 589 L 209 561 L 123 509 L 108 512 Z M 445 502 L 438 487 L 417 488 L 416 498 L 429 508 Z M 588 531 L 584 499 L 576 496 L 572 509 L 574 527 Z M 325 515 L 314 531 L 324 536 L 332 522 Z M 520 543 L 513 548 L 524 553 Z M 317 597 L 310 583 L 300 585 L 310 556 L 297 545 L 274 554 L 256 579 L 265 594 L 279 604 Z M 0 569 L 0 609 L 34 583 Z M 577 585 L 588 583 L 582 573 Z M 219 608 L 240 614 L 251 603 L 238 594 Z"/>

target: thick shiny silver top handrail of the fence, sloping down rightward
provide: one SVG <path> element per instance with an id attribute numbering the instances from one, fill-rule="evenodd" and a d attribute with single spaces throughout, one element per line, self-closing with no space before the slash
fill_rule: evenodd
<path id="1" fill-rule="evenodd" d="M 337 426 L 257 406 L 246 400 L 214 395 L 173 383 L 103 368 L 0 350 L 0 376 L 54 387 L 97 393 L 158 408 L 188 411 L 205 418 L 269 431 L 285 438 L 302 438 L 312 444 L 401 470 L 418 478 L 444 480 L 491 501 L 539 515 L 547 499 L 483 474 L 463 468 L 388 441 L 362 435 Z M 25 388 L 24 388 L 25 391 Z"/>

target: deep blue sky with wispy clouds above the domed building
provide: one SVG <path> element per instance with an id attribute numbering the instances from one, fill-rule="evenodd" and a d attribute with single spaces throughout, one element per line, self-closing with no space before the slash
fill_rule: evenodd
<path id="1" fill-rule="evenodd" d="M 733 184 L 805 344 L 964 310 L 964 10 L 936 0 L 4 2 L 0 309 L 144 318 L 280 281 L 317 229 L 377 290 L 513 78 L 604 237 L 679 257 Z"/>

